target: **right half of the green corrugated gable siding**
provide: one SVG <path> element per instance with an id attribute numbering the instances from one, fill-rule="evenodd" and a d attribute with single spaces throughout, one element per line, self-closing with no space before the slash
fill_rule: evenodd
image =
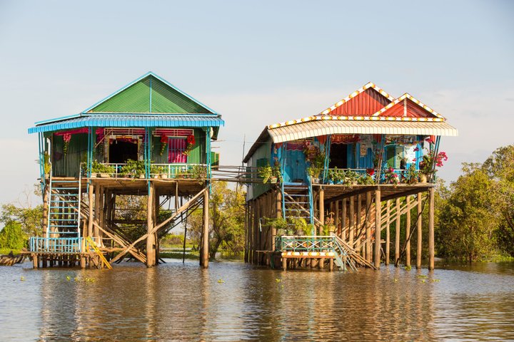
<path id="1" fill-rule="evenodd" d="M 151 113 L 211 113 L 156 78 L 152 78 L 151 90 Z"/>

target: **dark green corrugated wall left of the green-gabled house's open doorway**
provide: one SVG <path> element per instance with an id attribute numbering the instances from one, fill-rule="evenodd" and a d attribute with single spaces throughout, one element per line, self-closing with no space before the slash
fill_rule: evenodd
<path id="1" fill-rule="evenodd" d="M 58 177 L 79 177 L 82 156 L 87 152 L 87 134 L 71 135 L 69 149 L 66 155 L 63 153 L 63 137 L 54 136 L 52 152 L 52 172 Z M 56 160 L 56 155 L 61 155 Z"/>

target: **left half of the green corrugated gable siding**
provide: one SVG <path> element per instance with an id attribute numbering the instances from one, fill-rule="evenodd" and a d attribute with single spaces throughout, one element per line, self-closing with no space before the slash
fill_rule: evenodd
<path id="1" fill-rule="evenodd" d="M 149 111 L 150 78 L 147 77 L 100 103 L 88 113 L 148 113 Z"/>

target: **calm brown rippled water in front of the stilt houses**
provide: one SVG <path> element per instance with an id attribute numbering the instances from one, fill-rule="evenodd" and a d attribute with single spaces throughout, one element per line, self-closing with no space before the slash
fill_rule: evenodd
<path id="1" fill-rule="evenodd" d="M 514 341 L 514 264 L 440 267 L 27 262 L 0 267 L 0 341 Z"/>

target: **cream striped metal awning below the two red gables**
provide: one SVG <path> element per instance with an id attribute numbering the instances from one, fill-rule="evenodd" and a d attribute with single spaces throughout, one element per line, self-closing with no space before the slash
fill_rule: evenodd
<path id="1" fill-rule="evenodd" d="M 458 136 L 445 122 L 405 122 L 371 120 L 313 120 L 268 129 L 273 142 L 284 142 L 331 134 L 387 134 Z"/>

